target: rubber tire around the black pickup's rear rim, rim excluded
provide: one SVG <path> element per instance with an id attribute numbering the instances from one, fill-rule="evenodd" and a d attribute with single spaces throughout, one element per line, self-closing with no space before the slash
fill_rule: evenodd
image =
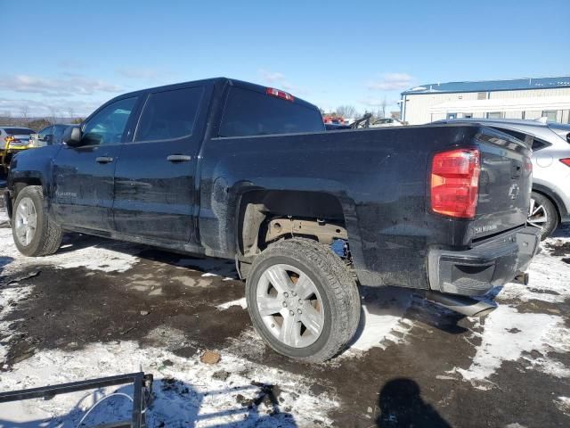
<path id="1" fill-rule="evenodd" d="M 267 268 L 280 264 L 302 271 L 321 296 L 322 332 L 316 342 L 303 348 L 288 346 L 275 337 L 257 307 L 256 289 L 261 276 Z M 273 243 L 257 256 L 246 282 L 246 298 L 251 321 L 264 341 L 282 355 L 307 362 L 326 361 L 344 350 L 360 320 L 360 294 L 349 269 L 328 247 L 308 239 Z"/>

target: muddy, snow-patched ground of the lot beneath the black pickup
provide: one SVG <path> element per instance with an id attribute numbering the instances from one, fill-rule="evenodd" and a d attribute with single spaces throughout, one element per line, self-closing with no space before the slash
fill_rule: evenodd
<path id="1" fill-rule="evenodd" d="M 142 368 L 157 379 L 151 427 L 567 427 L 569 263 L 570 230 L 558 230 L 531 284 L 497 290 L 483 321 L 362 289 L 351 349 L 308 366 L 253 332 L 232 262 L 85 235 L 27 259 L 0 213 L 0 391 Z M 200 362 L 204 350 L 220 361 Z M 76 426 L 102 392 L 2 405 L 0 427 Z M 87 421 L 127 404 L 110 399 Z"/>

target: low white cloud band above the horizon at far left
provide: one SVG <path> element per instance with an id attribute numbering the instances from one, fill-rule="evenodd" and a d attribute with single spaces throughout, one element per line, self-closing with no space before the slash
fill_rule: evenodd
<path id="1" fill-rule="evenodd" d="M 121 87 L 77 74 L 68 73 L 59 78 L 39 78 L 20 74 L 0 77 L 0 90 L 44 96 L 66 96 L 120 92 Z"/>

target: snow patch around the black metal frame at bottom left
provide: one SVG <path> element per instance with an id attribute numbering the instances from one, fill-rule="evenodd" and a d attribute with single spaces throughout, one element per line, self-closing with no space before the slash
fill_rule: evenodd
<path id="1" fill-rule="evenodd" d="M 164 362 L 168 361 L 168 364 Z M 84 350 L 66 352 L 45 350 L 13 366 L 10 375 L 0 378 L 0 390 L 12 391 L 45 384 L 66 383 L 82 379 L 139 370 L 155 374 L 153 390 L 156 398 L 147 411 L 149 426 L 243 427 L 314 426 L 315 420 L 330 426 L 326 416 L 339 403 L 335 397 L 322 393 L 318 397 L 308 394 L 310 381 L 297 374 L 259 366 L 248 360 L 223 353 L 220 363 L 205 365 L 197 359 L 180 358 L 157 348 L 140 348 L 134 342 L 94 343 Z M 214 376 L 220 371 L 224 376 Z M 255 380 L 252 383 L 251 380 Z M 265 385 L 273 385 L 267 387 Z M 58 421 L 57 426 L 75 426 L 101 392 L 132 393 L 129 387 L 114 387 L 98 394 L 77 392 L 62 394 L 50 400 L 32 399 L 12 405 L 0 405 L 5 420 L 19 422 Z M 254 399 L 273 391 L 277 397 L 261 399 L 258 406 L 248 407 Z M 272 399 L 276 399 L 276 403 Z M 109 422 L 127 411 L 125 399 L 110 399 L 97 407 L 89 424 Z M 10 410 L 9 410 L 10 409 Z M 274 412 L 274 414 L 271 414 Z M 36 425 L 34 425 L 36 426 Z M 42 425 L 44 426 L 44 425 Z M 52 426 L 45 424 L 45 426 Z"/>

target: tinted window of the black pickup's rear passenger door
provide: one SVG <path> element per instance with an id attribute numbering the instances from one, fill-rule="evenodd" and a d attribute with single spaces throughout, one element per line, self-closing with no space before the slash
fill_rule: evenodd
<path id="1" fill-rule="evenodd" d="M 191 136 L 204 88 L 185 87 L 149 95 L 136 128 L 135 142 Z"/>

